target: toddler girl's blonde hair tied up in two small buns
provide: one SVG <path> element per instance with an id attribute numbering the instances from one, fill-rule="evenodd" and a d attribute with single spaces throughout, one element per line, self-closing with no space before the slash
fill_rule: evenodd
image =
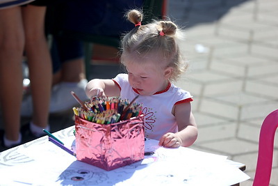
<path id="1" fill-rule="evenodd" d="M 124 56 L 136 55 L 137 58 L 141 58 L 156 52 L 158 59 L 167 62 L 166 67 L 173 68 L 170 81 L 177 81 L 188 66 L 182 60 L 179 45 L 177 44 L 179 36 L 177 25 L 171 21 L 154 20 L 152 23 L 141 26 L 143 15 L 140 10 L 129 10 L 126 17 L 136 27 L 122 38 L 121 62 L 123 64 L 126 63 Z"/>

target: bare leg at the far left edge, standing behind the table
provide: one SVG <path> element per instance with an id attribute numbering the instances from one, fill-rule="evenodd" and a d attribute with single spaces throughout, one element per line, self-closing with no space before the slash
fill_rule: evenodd
<path id="1" fill-rule="evenodd" d="M 24 28 L 20 6 L 0 10 L 0 103 L 4 123 L 4 146 L 21 142 L 22 54 Z"/>

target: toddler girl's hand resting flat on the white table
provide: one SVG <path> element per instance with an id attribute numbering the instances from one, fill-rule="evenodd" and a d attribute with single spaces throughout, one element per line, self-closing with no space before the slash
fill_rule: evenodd
<path id="1" fill-rule="evenodd" d="M 177 134 L 174 134 L 172 132 L 168 132 L 164 134 L 158 143 L 159 146 L 164 146 L 167 148 L 177 148 L 181 146 L 181 144 L 182 144 L 181 139 L 178 137 Z"/>

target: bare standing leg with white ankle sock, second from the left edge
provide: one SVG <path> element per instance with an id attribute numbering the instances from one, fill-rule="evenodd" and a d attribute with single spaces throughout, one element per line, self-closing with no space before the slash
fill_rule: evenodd
<path id="1" fill-rule="evenodd" d="M 22 8 L 25 30 L 25 52 L 28 59 L 33 115 L 31 132 L 39 137 L 42 128 L 49 130 L 49 100 L 51 96 L 52 66 L 47 39 L 44 34 L 44 16 L 47 6 L 28 5 Z"/>

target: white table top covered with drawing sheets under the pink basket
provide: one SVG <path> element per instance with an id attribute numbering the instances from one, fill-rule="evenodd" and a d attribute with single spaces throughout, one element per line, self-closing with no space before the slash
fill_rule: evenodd
<path id="1" fill-rule="evenodd" d="M 70 147 L 74 126 L 54 133 Z M 76 160 L 41 137 L 0 153 L 0 185 L 234 185 L 249 179 L 244 164 L 190 148 L 163 148 L 147 139 L 145 159 L 112 171 Z"/>

